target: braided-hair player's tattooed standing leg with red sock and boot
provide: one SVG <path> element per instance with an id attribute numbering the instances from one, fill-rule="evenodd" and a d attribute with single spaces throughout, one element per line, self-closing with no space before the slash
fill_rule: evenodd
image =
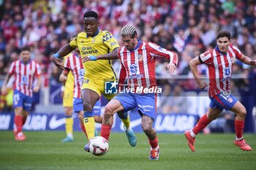
<path id="1" fill-rule="evenodd" d="M 151 160 L 158 160 L 159 159 L 159 145 L 157 139 L 157 133 L 153 128 L 153 119 L 146 115 L 142 116 L 141 120 L 142 129 L 146 136 L 148 136 L 148 142 L 151 146 L 151 151 L 149 158 Z"/>

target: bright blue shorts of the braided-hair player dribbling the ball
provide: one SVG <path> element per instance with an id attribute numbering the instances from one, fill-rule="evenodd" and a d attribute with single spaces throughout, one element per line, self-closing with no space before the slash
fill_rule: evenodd
<path id="1" fill-rule="evenodd" d="M 136 94 L 119 93 L 114 97 L 124 107 L 124 112 L 138 108 L 140 115 L 147 115 L 154 120 L 156 116 L 157 95 L 155 93 Z"/>

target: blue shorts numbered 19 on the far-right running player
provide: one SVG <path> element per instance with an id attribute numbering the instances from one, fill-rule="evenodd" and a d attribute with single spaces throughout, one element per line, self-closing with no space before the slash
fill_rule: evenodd
<path id="1" fill-rule="evenodd" d="M 230 110 L 238 101 L 233 95 L 223 91 L 222 93 L 217 94 L 211 99 L 210 107 L 213 109 L 219 109 L 222 111 Z"/>

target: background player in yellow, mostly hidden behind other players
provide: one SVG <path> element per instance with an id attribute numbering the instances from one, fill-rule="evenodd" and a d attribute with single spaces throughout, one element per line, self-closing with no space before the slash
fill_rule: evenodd
<path id="1" fill-rule="evenodd" d="M 65 56 L 67 60 L 69 55 Z M 72 142 L 73 138 L 73 124 L 74 120 L 72 117 L 73 113 L 73 88 L 74 88 L 74 76 L 72 72 L 67 74 L 67 77 L 64 77 L 64 71 L 61 73 L 59 80 L 65 80 L 64 86 L 61 88 L 61 93 L 63 93 L 63 107 L 65 108 L 65 129 L 67 137 L 62 139 L 61 142 Z M 61 81 L 62 82 L 62 81 Z"/>

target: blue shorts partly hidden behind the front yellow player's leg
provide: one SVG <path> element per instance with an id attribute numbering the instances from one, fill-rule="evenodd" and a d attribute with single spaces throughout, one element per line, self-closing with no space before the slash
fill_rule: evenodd
<path id="1" fill-rule="evenodd" d="M 73 98 L 73 107 L 74 107 L 74 112 L 83 111 L 82 99 L 81 98 Z M 101 109 L 101 101 L 98 100 L 94 105 L 94 109 L 92 109 L 92 113 L 94 115 L 100 115 L 100 109 Z"/>

